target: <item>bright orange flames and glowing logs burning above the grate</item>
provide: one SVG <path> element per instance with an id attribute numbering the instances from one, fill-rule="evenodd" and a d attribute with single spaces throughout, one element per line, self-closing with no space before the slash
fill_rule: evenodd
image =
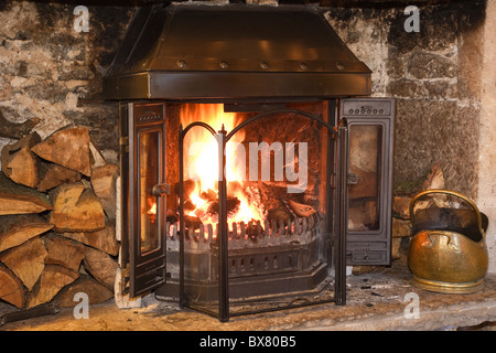
<path id="1" fill-rule="evenodd" d="M 217 131 L 229 132 L 242 121 L 241 116 L 226 113 L 222 104 L 185 104 L 180 111 L 183 127 L 203 121 Z M 245 138 L 245 130 L 240 129 L 226 143 L 228 223 L 263 224 L 269 220 L 282 221 L 288 226 L 294 217 L 316 213 L 312 205 L 291 199 L 308 189 L 308 142 L 294 142 L 294 136 L 285 143 L 248 142 Z M 219 212 L 218 181 L 223 178 L 218 175 L 217 136 L 195 127 L 188 131 L 184 146 L 186 227 L 215 226 Z M 278 184 L 282 192 L 274 195 L 268 184 Z M 175 211 L 170 210 L 171 213 Z"/>

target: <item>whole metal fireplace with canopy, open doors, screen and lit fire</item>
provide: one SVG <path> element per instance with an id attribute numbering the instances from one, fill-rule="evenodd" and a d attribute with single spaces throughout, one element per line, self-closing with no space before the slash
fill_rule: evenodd
<path id="1" fill-rule="evenodd" d="M 389 264 L 395 101 L 317 8 L 142 8 L 104 89 L 122 292 L 226 321 L 345 304 L 346 265 Z"/>

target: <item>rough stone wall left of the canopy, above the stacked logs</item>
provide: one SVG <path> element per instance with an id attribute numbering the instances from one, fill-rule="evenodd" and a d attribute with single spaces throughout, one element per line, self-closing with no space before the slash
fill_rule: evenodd
<path id="1" fill-rule="evenodd" d="M 7 1 L 0 8 L 0 110 L 21 122 L 39 117 L 42 138 L 71 125 L 91 128 L 116 158 L 117 104 L 101 100 L 101 77 L 133 8 L 88 7 L 89 31 L 76 32 L 75 6 Z M 0 148 L 9 143 L 0 139 Z"/>

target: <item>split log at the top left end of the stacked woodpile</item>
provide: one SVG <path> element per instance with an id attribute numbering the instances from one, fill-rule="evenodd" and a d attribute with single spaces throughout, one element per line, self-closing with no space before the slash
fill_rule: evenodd
<path id="1" fill-rule="evenodd" d="M 3 147 L 1 153 L 3 173 L 19 184 L 36 188 L 39 183 L 39 160 L 31 152 L 31 147 L 40 141 L 40 136 L 33 132 L 15 143 Z"/>

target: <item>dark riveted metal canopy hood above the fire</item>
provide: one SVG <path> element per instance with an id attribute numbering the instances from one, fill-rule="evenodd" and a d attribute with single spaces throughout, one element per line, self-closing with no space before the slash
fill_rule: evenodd
<path id="1" fill-rule="evenodd" d="M 308 6 L 140 8 L 107 99 L 285 100 L 370 94 L 370 69 Z"/>

